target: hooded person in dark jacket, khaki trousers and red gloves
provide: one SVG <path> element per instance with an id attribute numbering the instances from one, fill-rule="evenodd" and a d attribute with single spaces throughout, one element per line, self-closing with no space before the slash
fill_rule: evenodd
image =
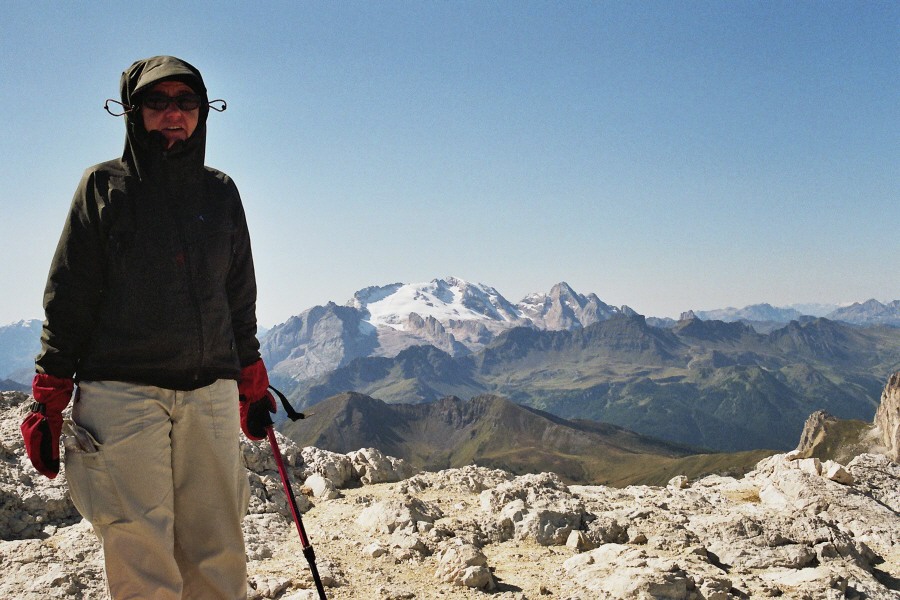
<path id="1" fill-rule="evenodd" d="M 246 598 L 239 425 L 275 402 L 241 198 L 204 165 L 207 90 L 171 56 L 122 74 L 125 150 L 85 171 L 44 291 L 22 435 L 100 539 L 110 596 Z"/>

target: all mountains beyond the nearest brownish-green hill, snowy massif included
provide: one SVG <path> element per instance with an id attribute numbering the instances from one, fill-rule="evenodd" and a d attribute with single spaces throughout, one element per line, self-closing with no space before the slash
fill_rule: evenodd
<path id="1" fill-rule="evenodd" d="M 900 301 L 826 315 L 754 305 L 644 318 L 566 283 L 512 303 L 447 277 L 309 308 L 261 334 L 261 350 L 301 406 L 347 391 L 390 404 L 490 394 L 676 444 L 777 449 L 817 409 L 870 419 L 900 368 Z M 0 377 L 30 382 L 39 329 L 0 328 Z"/>

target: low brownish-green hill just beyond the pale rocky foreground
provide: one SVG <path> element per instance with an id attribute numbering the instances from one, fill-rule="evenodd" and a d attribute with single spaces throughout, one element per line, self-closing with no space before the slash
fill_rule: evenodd
<path id="1" fill-rule="evenodd" d="M 282 432 L 303 446 L 333 452 L 376 447 L 418 469 L 478 464 L 616 486 L 664 485 L 680 474 L 740 474 L 771 454 L 696 454 L 620 427 L 567 421 L 490 395 L 411 405 L 341 394 L 317 404 L 310 418 L 285 423 Z"/>

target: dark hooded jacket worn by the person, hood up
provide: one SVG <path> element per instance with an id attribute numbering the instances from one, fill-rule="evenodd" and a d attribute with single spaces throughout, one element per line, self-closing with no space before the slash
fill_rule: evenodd
<path id="1" fill-rule="evenodd" d="M 196 69 L 155 57 L 123 73 L 123 104 L 164 79 L 206 98 Z M 207 114 L 167 151 L 132 111 L 122 158 L 85 171 L 44 292 L 39 373 L 195 389 L 259 359 L 250 236 L 234 183 L 203 164 Z"/>

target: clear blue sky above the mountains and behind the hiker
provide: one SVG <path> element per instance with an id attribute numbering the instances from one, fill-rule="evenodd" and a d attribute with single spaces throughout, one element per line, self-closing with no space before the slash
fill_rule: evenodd
<path id="1" fill-rule="evenodd" d="M 211 98 L 272 326 L 452 275 L 647 316 L 900 299 L 900 3 L 9 2 L 0 324 L 42 316 L 134 60 Z"/>

